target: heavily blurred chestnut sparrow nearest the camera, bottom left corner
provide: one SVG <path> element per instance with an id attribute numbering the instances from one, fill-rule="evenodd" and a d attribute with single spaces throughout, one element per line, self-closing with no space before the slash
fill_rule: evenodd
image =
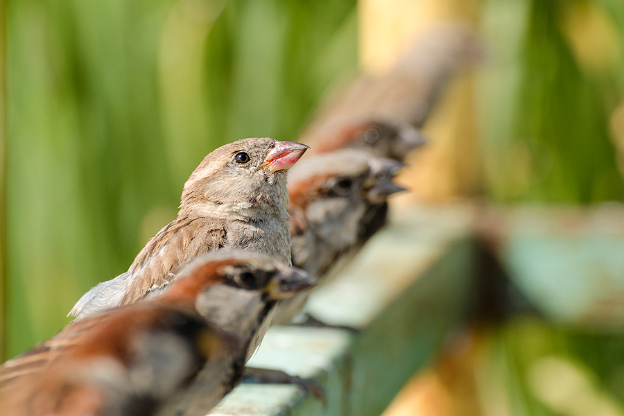
<path id="1" fill-rule="evenodd" d="M 39 347 L 2 367 L 2 414 L 154 414 L 202 367 L 237 348 L 236 338 L 209 327 L 192 306 L 142 302 L 76 322 L 47 350 Z M 38 365 L 10 373 L 37 354 Z"/>

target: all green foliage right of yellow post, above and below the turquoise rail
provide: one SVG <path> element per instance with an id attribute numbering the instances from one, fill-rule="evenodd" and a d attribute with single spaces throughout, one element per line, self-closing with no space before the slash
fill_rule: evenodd
<path id="1" fill-rule="evenodd" d="M 616 117 L 624 104 L 624 2 L 489 0 L 481 28 L 494 49 L 478 80 L 489 198 L 624 200 L 623 138 L 614 131 L 624 127 Z M 621 331 L 521 319 L 490 341 L 482 392 L 505 414 L 624 414 Z"/>

